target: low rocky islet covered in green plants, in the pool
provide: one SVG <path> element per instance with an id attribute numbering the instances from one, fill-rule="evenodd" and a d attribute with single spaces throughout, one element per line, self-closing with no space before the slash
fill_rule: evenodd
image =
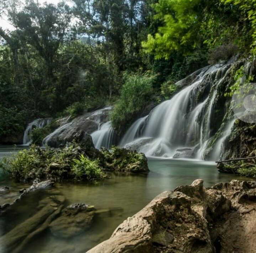
<path id="1" fill-rule="evenodd" d="M 63 148 L 40 148 L 31 145 L 10 158 L 1 161 L 0 167 L 19 180 L 35 178 L 50 180 L 100 180 L 105 170 L 148 172 L 147 158 L 142 153 L 118 147 L 99 150 L 67 143 Z"/>

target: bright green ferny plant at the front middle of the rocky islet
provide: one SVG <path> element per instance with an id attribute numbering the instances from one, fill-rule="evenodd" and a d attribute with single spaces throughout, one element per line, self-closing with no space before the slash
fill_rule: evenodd
<path id="1" fill-rule="evenodd" d="M 76 180 L 94 180 L 104 177 L 104 172 L 99 166 L 98 159 L 91 161 L 86 156 L 81 154 L 79 155 L 78 159 L 73 159 L 73 161 L 74 165 L 71 171 L 73 172 Z"/>

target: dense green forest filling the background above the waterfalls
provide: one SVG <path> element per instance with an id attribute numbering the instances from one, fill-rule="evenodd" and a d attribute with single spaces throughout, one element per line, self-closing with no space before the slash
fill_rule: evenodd
<path id="1" fill-rule="evenodd" d="M 0 15 L 1 140 L 109 104 L 118 129 L 189 73 L 256 50 L 248 0 L 0 0 Z"/>

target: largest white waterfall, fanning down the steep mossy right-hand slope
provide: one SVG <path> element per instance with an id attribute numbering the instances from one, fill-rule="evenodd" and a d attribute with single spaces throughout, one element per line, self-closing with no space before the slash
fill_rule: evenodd
<path id="1" fill-rule="evenodd" d="M 193 73 L 194 81 L 189 86 L 156 106 L 148 116 L 134 122 L 120 146 L 160 157 L 172 157 L 182 149 L 195 150 L 195 158 L 204 158 L 214 135 L 212 120 L 217 89 L 223 84 L 230 67 L 230 64 L 208 66 L 201 72 L 197 71 L 196 77 Z M 226 134 L 229 134 L 228 130 Z"/>

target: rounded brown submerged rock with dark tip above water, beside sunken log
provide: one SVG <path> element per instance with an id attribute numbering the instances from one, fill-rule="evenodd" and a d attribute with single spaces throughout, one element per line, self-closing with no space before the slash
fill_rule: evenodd
<path id="1" fill-rule="evenodd" d="M 60 238 L 70 238 L 87 230 L 94 217 L 93 206 L 77 203 L 65 208 L 61 216 L 50 224 L 51 233 Z"/>

